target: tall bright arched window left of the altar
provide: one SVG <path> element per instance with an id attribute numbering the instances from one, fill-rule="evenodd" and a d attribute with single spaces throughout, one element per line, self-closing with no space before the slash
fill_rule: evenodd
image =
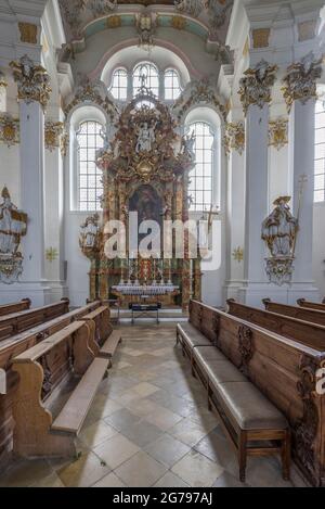
<path id="1" fill-rule="evenodd" d="M 95 154 L 104 145 L 103 126 L 93 120 L 83 122 L 77 132 L 77 141 L 79 211 L 100 211 L 103 183 Z"/>

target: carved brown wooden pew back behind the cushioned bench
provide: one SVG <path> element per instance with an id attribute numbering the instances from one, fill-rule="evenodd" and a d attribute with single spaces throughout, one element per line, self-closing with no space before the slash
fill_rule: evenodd
<path id="1" fill-rule="evenodd" d="M 325 394 L 317 391 L 325 353 L 198 302 L 190 314 L 288 419 L 296 463 L 313 485 L 325 486 Z"/>

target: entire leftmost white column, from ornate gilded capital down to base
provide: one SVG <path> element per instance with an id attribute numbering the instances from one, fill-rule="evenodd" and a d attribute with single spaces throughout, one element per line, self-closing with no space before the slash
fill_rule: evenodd
<path id="1" fill-rule="evenodd" d="M 44 281 L 44 107 L 50 98 L 49 76 L 27 55 L 11 64 L 18 87 L 21 116 L 22 209 L 28 214 L 23 240 L 24 272 L 12 288 L 34 306 L 50 302 Z M 18 300 L 18 298 L 17 298 Z"/>

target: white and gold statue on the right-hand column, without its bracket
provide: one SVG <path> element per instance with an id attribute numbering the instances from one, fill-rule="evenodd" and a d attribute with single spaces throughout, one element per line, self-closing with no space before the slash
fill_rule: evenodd
<path id="1" fill-rule="evenodd" d="M 281 196 L 275 200 L 274 211 L 262 225 L 262 239 L 275 258 L 294 256 L 298 219 L 291 215 L 288 205 L 290 200 L 290 196 Z"/>

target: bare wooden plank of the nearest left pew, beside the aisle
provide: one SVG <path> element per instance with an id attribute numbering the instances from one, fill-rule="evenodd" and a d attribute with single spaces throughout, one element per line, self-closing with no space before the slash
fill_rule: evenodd
<path id="1" fill-rule="evenodd" d="M 54 420 L 51 430 L 78 435 L 89 408 L 104 379 L 109 360 L 96 358 L 88 368 L 63 410 Z"/>

